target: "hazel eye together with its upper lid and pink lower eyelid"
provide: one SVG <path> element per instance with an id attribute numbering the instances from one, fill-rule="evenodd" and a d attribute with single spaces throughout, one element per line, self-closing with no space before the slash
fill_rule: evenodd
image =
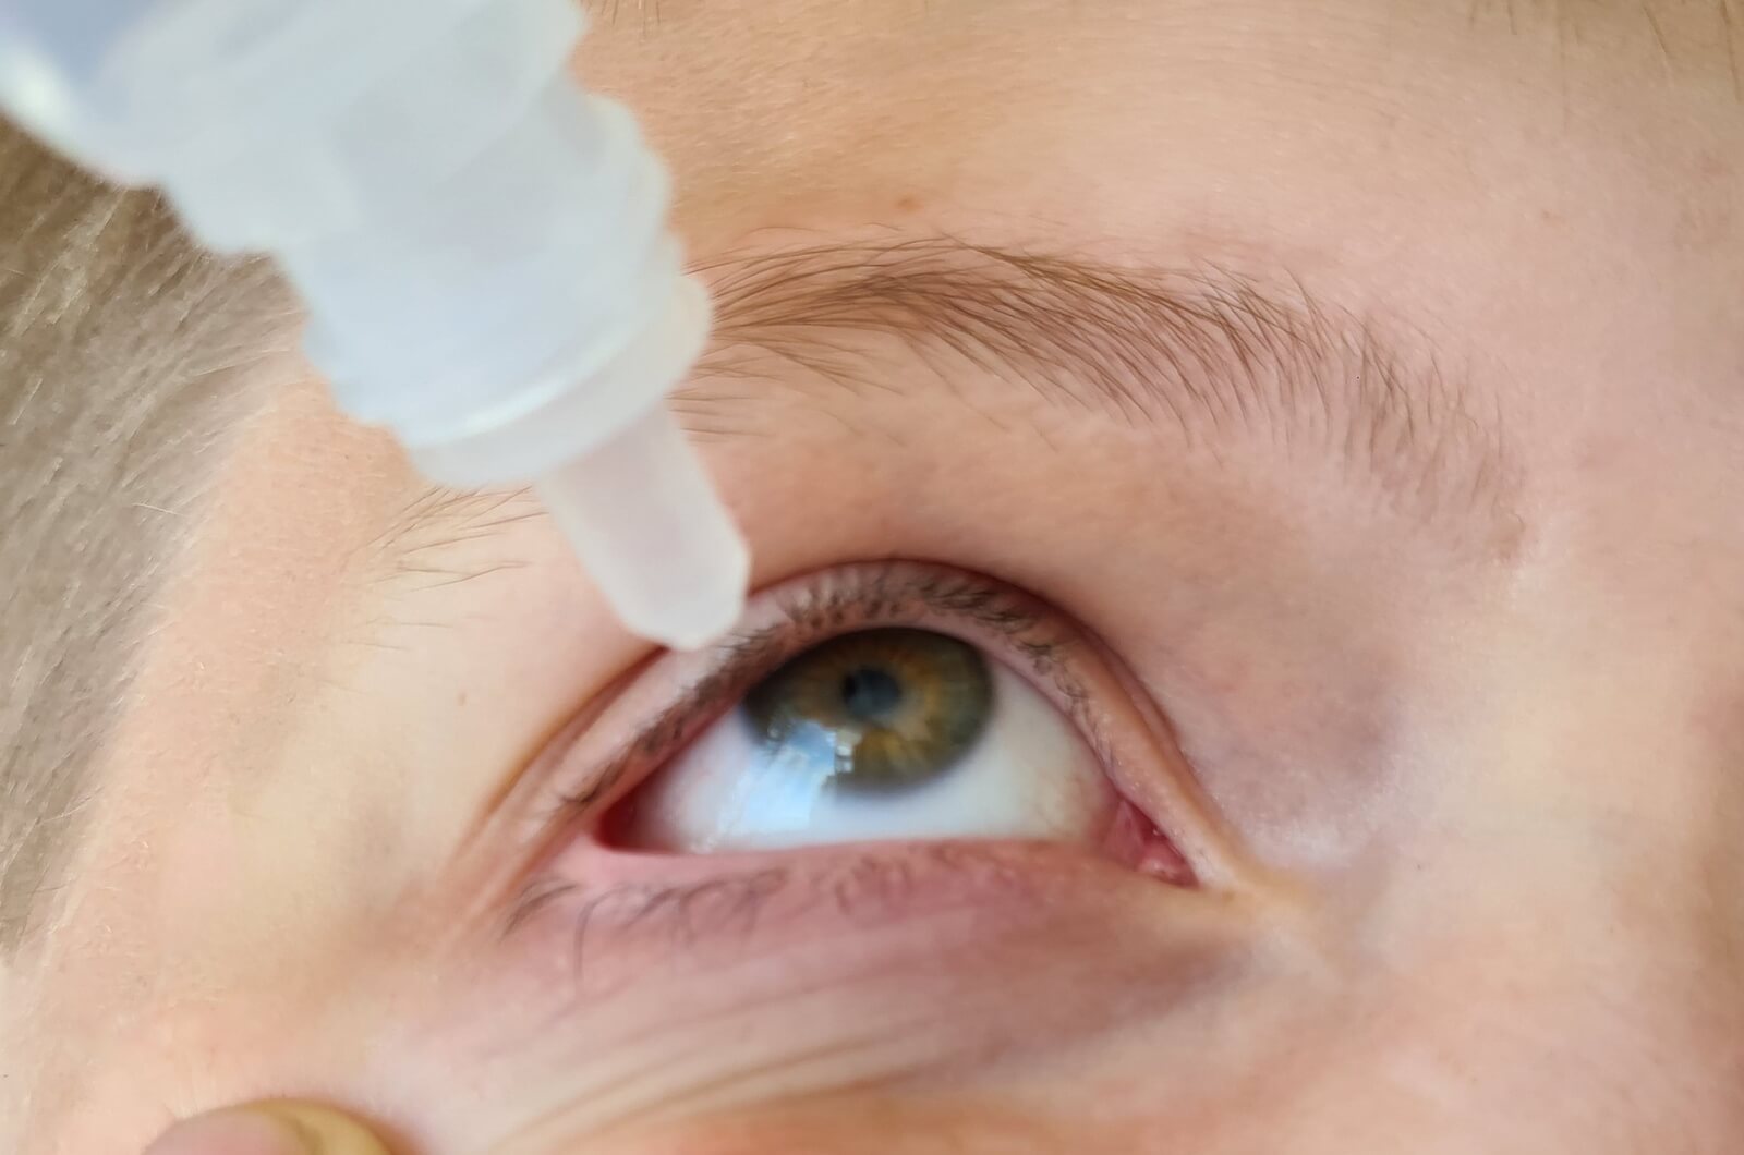
<path id="1" fill-rule="evenodd" d="M 508 783 L 457 865 L 492 914 L 459 998 L 492 1054 L 666 1056 L 656 1083 L 1060 1054 L 1236 965 L 1243 862 L 1181 745 L 1066 605 L 919 560 L 800 572 Z"/>

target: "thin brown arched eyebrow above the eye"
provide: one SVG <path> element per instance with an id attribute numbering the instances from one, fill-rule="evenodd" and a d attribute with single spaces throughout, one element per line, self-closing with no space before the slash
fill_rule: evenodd
<path id="1" fill-rule="evenodd" d="M 799 370 L 855 394 L 917 387 L 865 340 L 895 338 L 947 387 L 970 366 L 1214 464 L 1243 445 L 1331 462 L 1486 553 L 1521 536 L 1502 415 L 1470 412 L 1465 379 L 1425 335 L 1332 309 L 1289 274 L 1116 267 L 950 236 L 746 249 L 699 272 L 715 340 L 673 405 L 701 436 L 745 427 L 731 412 L 745 391 L 724 380 Z"/>

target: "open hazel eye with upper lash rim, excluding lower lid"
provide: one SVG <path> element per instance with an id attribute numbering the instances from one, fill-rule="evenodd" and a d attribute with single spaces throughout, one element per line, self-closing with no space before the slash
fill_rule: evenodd
<path id="1" fill-rule="evenodd" d="M 844 567 L 769 598 L 731 653 L 741 668 L 696 694 L 706 721 L 678 728 L 605 810 L 603 844 L 1048 841 L 1189 876 L 1158 808 L 1135 797 L 1156 768 L 1107 701 L 1125 691 L 1036 598 L 944 567 Z"/>

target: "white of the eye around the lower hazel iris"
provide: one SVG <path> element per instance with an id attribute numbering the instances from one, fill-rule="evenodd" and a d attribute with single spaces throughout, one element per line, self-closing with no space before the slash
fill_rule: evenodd
<path id="1" fill-rule="evenodd" d="M 1116 806 L 1095 755 L 1032 686 L 987 665 L 985 729 L 938 778 L 896 792 L 830 789 L 828 731 L 813 728 L 771 748 L 736 708 L 644 783 L 623 839 L 685 853 L 884 839 L 1095 843 Z"/>

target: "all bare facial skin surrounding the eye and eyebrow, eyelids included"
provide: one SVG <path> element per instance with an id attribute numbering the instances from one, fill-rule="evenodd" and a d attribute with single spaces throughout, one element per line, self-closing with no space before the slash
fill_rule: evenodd
<path id="1" fill-rule="evenodd" d="M 1741 17 L 602 14 L 582 75 L 724 291 L 909 237 L 1216 269 L 1444 382 L 1406 436 L 1465 483 L 1437 513 L 1324 429 L 1188 436 L 869 328 L 719 351 L 675 408 L 753 584 L 1032 598 L 1195 885 L 1029 844 L 649 864 L 553 799 L 715 658 L 619 632 L 528 499 L 431 494 L 276 387 L 0 986 L 0 1148 L 303 1096 L 431 1155 L 1739 1150 Z"/>

